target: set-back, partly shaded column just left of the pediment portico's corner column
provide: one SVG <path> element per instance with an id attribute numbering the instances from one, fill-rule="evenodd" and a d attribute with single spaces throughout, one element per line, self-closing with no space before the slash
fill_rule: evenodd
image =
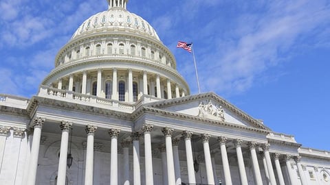
<path id="1" fill-rule="evenodd" d="M 133 132 L 131 138 L 133 140 L 133 184 L 141 184 L 140 176 L 140 136 L 139 132 Z"/>

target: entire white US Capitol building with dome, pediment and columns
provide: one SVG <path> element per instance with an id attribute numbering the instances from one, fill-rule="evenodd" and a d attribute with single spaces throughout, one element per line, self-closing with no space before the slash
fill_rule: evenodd
<path id="1" fill-rule="evenodd" d="M 128 0 L 88 18 L 31 99 L 0 95 L 0 184 L 330 184 L 330 153 L 190 95 Z"/>

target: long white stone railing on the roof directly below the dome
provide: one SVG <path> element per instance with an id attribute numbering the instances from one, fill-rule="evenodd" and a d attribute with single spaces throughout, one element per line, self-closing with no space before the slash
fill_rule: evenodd
<path id="1" fill-rule="evenodd" d="M 80 103 L 86 106 L 95 106 L 98 108 L 119 108 L 121 110 L 135 110 L 135 105 L 132 103 L 117 101 L 113 99 L 105 99 L 93 95 L 84 95 L 75 93 L 71 90 L 61 90 L 50 86 L 41 86 L 39 97 L 47 97 L 50 99 L 58 99 L 72 103 Z"/>

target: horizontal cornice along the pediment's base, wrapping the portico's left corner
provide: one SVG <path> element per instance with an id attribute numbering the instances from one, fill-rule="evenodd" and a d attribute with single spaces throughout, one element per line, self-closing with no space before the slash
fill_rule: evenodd
<path id="1" fill-rule="evenodd" d="M 211 119 L 204 119 L 199 116 L 190 116 L 188 114 L 181 114 L 177 112 L 169 112 L 166 110 L 160 110 L 158 108 L 152 108 L 148 106 L 142 106 L 138 108 L 134 114 L 132 115 L 132 119 L 136 120 L 138 117 L 140 117 L 144 113 L 151 113 L 151 114 L 157 114 L 159 116 L 166 116 L 174 119 L 181 119 L 181 120 L 186 120 L 186 121 L 193 121 L 196 123 L 198 121 L 199 123 L 203 124 L 209 124 L 209 125 L 221 125 L 225 127 L 231 127 L 234 129 L 239 129 L 239 130 L 248 130 L 252 132 L 260 132 L 261 134 L 268 134 L 269 130 L 263 130 L 263 129 L 258 129 L 254 127 L 245 127 L 242 125 L 236 125 L 232 123 L 227 123 L 223 121 L 216 121 L 216 120 L 211 120 Z"/>

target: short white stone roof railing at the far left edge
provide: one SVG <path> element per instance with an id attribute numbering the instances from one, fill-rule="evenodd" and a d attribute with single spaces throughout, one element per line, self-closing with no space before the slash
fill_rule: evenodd
<path id="1" fill-rule="evenodd" d="M 30 99 L 24 97 L 0 94 L 0 106 L 25 109 L 28 107 L 29 102 Z"/>

